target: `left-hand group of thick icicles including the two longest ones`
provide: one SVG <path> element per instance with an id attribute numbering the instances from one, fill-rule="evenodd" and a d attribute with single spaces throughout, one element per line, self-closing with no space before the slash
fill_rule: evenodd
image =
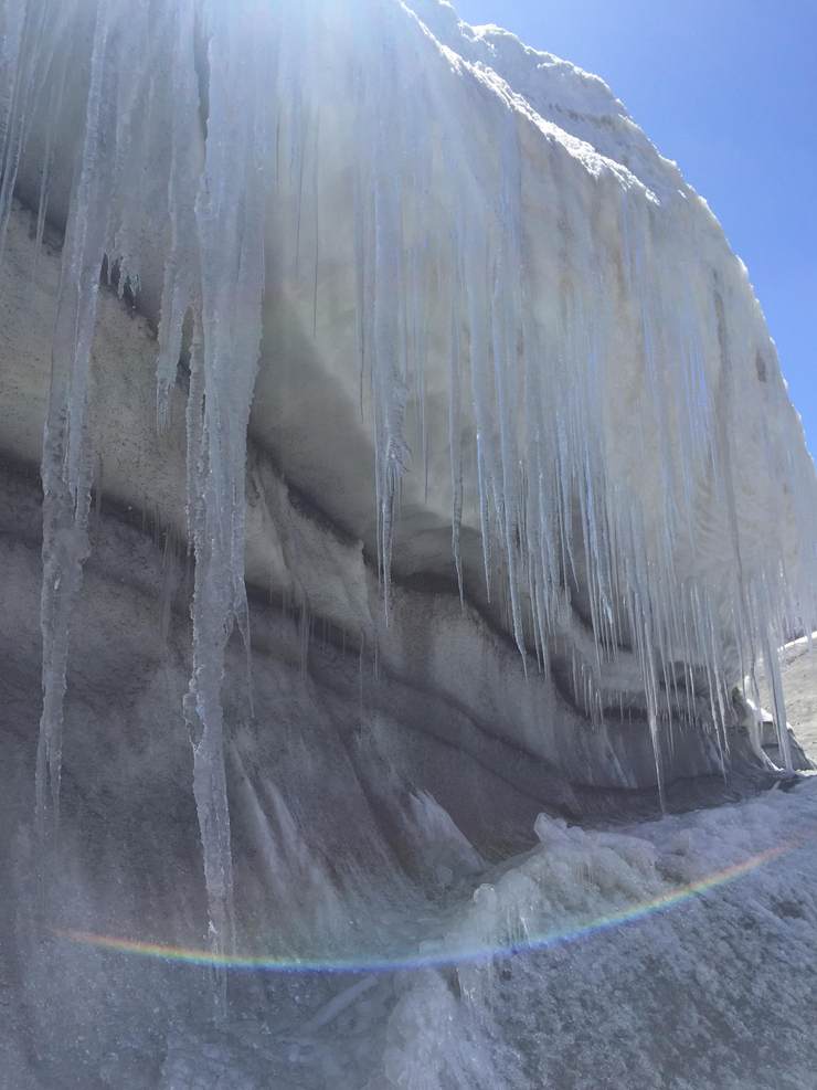
<path id="1" fill-rule="evenodd" d="M 188 532 L 195 554 L 193 668 L 184 700 L 194 753 L 214 952 L 232 943 L 232 863 L 221 687 L 235 625 L 248 644 L 244 585 L 244 478 L 250 405 L 261 349 L 264 205 L 269 183 L 270 57 L 279 36 L 265 6 L 233 3 L 11 0 L 3 56 L 3 213 L 25 139 L 29 110 L 46 91 L 60 125 L 66 41 L 88 29 L 84 142 L 65 231 L 43 441 L 43 712 L 36 814 L 43 835 L 59 821 L 70 621 L 88 552 L 93 486 L 88 378 L 103 268 L 138 298 L 139 232 L 167 231 L 157 364 L 158 426 L 168 421 L 185 321 L 192 325 L 188 431 Z M 193 138 L 202 103 L 194 44 L 209 42 L 203 157 Z M 277 92 L 283 95 L 283 88 Z M 170 126 L 167 207 L 140 190 L 151 150 Z M 51 144 L 51 139 L 49 144 Z M 43 163 L 40 224 L 46 214 Z M 157 221 L 157 215 L 160 218 Z M 162 222 L 163 221 L 163 222 Z"/>

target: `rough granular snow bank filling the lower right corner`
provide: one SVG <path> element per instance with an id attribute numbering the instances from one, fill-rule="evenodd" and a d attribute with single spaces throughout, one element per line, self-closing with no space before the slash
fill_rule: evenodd
<path id="1" fill-rule="evenodd" d="M 809 1016 L 794 1007 L 809 994 L 813 789 L 622 832 L 540 818 L 540 846 L 480 886 L 449 932 L 464 946 L 513 951 L 457 967 L 466 1025 L 513 1049 L 494 1048 L 469 1071 L 445 1043 L 445 1019 L 432 1016 L 407 1035 L 439 1063 L 439 1082 L 418 1084 L 444 1086 L 446 1077 L 471 1086 L 807 1084 Z M 626 924 L 617 916 L 620 906 L 660 903 L 746 861 L 744 877 L 715 881 L 698 898 Z M 582 932 L 577 918 L 597 922 Z M 563 934 L 526 953 L 540 936 Z M 418 1005 L 434 1002 L 431 982 L 413 992 Z M 436 1004 L 442 1014 L 443 995 Z M 785 1029 L 773 1030 L 784 1009 Z M 404 1025 L 412 1016 L 413 1008 L 393 1017 Z M 776 1033 L 778 1048 L 770 1049 Z M 460 1049 L 468 1039 L 467 1029 L 452 1036 Z M 407 1049 L 403 1058 L 411 1062 Z"/>

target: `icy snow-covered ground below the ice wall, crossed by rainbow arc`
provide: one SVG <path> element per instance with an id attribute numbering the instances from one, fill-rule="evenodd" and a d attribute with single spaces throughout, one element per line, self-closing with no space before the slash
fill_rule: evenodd
<path id="1" fill-rule="evenodd" d="M 793 708 L 817 703 L 800 686 L 809 667 L 791 655 Z M 209 1020 L 208 975 L 178 953 L 35 944 L 28 1002 L 7 1023 L 6 1070 L 21 1075 L 0 1084 L 817 1088 L 817 775 L 626 826 L 543 815 L 535 846 L 492 866 L 431 796 L 413 821 L 428 875 L 413 892 L 389 870 L 360 890 L 357 956 L 298 969 L 305 936 L 287 969 L 232 970 L 225 1020 Z M 55 1010 L 65 982 L 76 1002 Z M 26 1010 L 40 1023 L 31 1078 L 14 1040 Z"/>

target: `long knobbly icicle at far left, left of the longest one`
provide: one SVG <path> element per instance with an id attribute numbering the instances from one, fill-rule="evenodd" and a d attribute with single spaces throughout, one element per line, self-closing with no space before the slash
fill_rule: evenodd
<path id="1" fill-rule="evenodd" d="M 109 36 L 115 13 L 105 3 L 96 11 L 82 166 L 65 233 L 43 436 L 43 710 L 36 766 L 36 814 L 42 834 L 49 815 L 54 827 L 59 825 L 68 637 L 88 551 L 93 473 L 87 435 L 88 373 L 112 202 L 117 73 Z"/>

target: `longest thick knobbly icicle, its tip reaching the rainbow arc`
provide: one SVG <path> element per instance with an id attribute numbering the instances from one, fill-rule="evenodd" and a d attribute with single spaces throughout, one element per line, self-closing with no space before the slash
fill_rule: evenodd
<path id="1" fill-rule="evenodd" d="M 244 584 L 246 435 L 258 367 L 264 294 L 263 209 L 270 140 L 262 108 L 274 55 L 238 2 L 210 10 L 204 169 L 195 200 L 201 328 L 191 354 L 189 518 L 195 552 L 193 670 L 184 711 L 204 853 L 211 945 L 234 940 L 230 813 L 221 687 L 237 624 L 250 654 Z M 178 314 L 178 311 L 177 311 Z M 220 982 L 223 1010 L 225 980 Z"/>

